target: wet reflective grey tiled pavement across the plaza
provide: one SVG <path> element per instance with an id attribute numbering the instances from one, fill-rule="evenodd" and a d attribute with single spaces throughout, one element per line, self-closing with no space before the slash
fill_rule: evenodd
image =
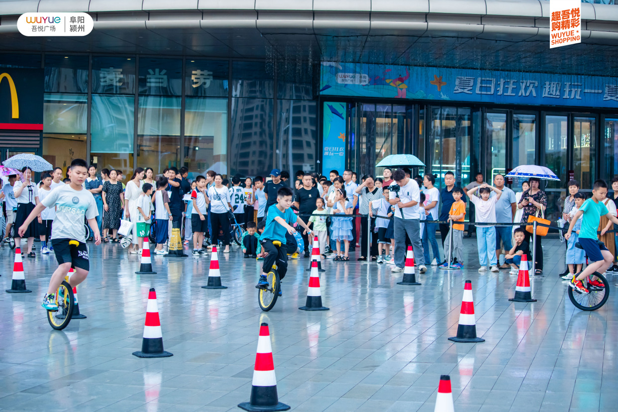
<path id="1" fill-rule="evenodd" d="M 298 310 L 308 259 L 290 261 L 283 296 L 268 313 L 255 289 L 261 263 L 236 246 L 219 253 L 228 288 L 206 290 L 207 256 L 155 255 L 158 273 L 137 275 L 137 255 L 91 245 L 91 272 L 78 288 L 87 319 L 63 331 L 51 329 L 40 306 L 54 255 L 25 258 L 33 293 L 9 294 L 14 255 L 5 246 L 0 410 L 239 410 L 251 392 L 260 322 L 270 326 L 279 400 L 295 411 L 433 411 L 441 374 L 451 375 L 457 411 L 616 410 L 618 301 L 611 295 L 598 311 L 576 309 L 557 277 L 564 244 L 543 245 L 545 277 L 531 278 L 535 303 L 508 300 L 517 275 L 477 272 L 476 241 L 465 239 L 464 270 L 429 267 L 417 275 L 421 286 L 397 285 L 402 274 L 357 256 L 323 261 L 329 311 Z M 484 343 L 447 340 L 468 279 Z M 151 287 L 171 358 L 132 356 L 142 347 Z"/>

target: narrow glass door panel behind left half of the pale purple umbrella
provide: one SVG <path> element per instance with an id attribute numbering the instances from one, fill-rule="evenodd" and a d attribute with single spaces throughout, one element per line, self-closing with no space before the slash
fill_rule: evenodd
<path id="1" fill-rule="evenodd" d="M 535 164 L 536 153 L 536 115 L 513 114 L 512 164 Z M 513 178 L 513 190 L 519 191 L 522 182 L 527 179 Z M 516 190 L 517 189 L 517 190 Z"/>

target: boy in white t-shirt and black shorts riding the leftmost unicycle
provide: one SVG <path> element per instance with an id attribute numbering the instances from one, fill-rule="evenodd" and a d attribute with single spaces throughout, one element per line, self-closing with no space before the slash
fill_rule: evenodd
<path id="1" fill-rule="evenodd" d="M 75 269 L 69 279 L 71 287 L 76 287 L 88 276 L 90 261 L 88 261 L 88 249 L 85 243 L 86 231 L 83 229 L 84 216 L 95 233 L 95 245 L 101 244 L 101 234 L 96 223 L 96 216 L 99 212 L 95 198 L 90 191 L 82 187 L 88 175 L 87 163 L 82 159 L 75 159 L 71 162 L 68 174 L 71 182 L 64 187 L 56 188 L 46 196 L 19 227 L 19 233 L 23 235 L 30 222 L 36 219 L 43 209 L 56 206 L 56 217 L 51 230 L 51 244 L 56 252 L 58 268 L 51 275 L 49 288 L 41 305 L 49 311 L 58 310 L 55 293 L 71 267 Z M 73 247 L 75 242 L 77 246 Z"/>

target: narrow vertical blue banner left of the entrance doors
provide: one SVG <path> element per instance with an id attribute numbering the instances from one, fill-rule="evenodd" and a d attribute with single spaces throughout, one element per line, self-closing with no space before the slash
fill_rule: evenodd
<path id="1" fill-rule="evenodd" d="M 345 169 L 345 103 L 324 102 L 322 174 Z"/>

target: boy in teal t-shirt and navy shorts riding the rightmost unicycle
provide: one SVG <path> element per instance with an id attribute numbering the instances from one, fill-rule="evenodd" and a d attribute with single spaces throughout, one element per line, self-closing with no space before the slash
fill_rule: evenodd
<path id="1" fill-rule="evenodd" d="M 598 243 L 596 235 L 596 229 L 599 227 L 601 216 L 607 217 L 607 219 L 618 225 L 618 219 L 612 216 L 603 204 L 603 200 L 606 196 L 607 183 L 605 183 L 604 180 L 596 180 L 592 190 L 592 197 L 586 200 L 579 211 L 575 213 L 569 225 L 569 230 L 564 235 L 564 238 L 569 240 L 575 222 L 583 215 L 582 228 L 579 233 L 579 243 L 582 245 L 583 250 L 586 251 L 586 255 L 588 255 L 588 259 L 590 259 L 591 263 L 588 264 L 586 269 L 580 272 L 579 275 L 574 275 L 573 279 L 569 282 L 570 287 L 582 293 L 588 293 L 591 287 L 604 288 L 605 285 L 598 277 L 593 276 L 591 279 L 589 276 L 595 272 L 604 273 L 607 268 L 611 266 L 612 261 L 614 261 L 612 253 L 607 250 L 603 243 Z M 586 278 L 588 279 L 588 288 L 586 288 L 582 282 L 582 280 Z"/>

